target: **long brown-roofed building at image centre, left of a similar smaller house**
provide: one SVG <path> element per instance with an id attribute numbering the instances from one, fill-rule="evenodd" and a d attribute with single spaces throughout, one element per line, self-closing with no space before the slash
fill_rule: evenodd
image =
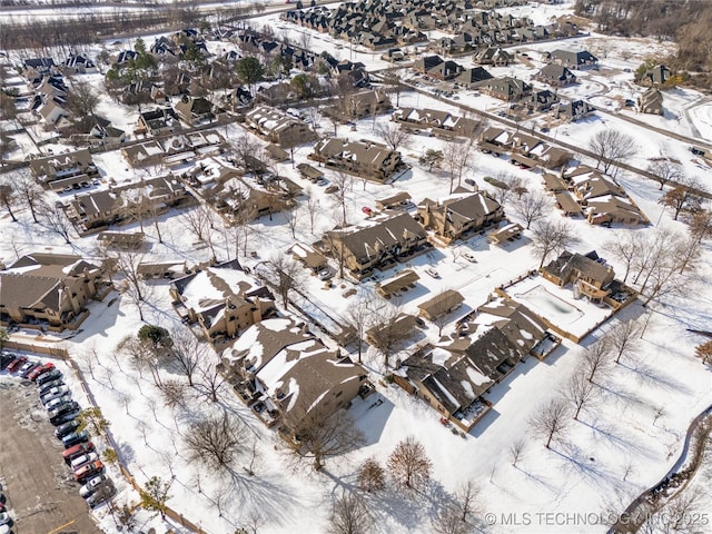
<path id="1" fill-rule="evenodd" d="M 325 254 L 357 278 L 429 248 L 425 229 L 411 215 L 392 211 L 359 226 L 329 230 L 322 239 L 322 246 Z"/>

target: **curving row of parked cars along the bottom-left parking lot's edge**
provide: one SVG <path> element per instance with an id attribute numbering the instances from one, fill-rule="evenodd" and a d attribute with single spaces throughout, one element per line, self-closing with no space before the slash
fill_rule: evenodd
<path id="1" fill-rule="evenodd" d="M 65 446 L 65 462 L 71 467 L 75 479 L 82 484 L 79 494 L 89 506 L 93 508 L 116 495 L 116 487 L 105 474 L 99 453 L 89 441 L 89 433 L 79 431 L 81 423 L 77 417 L 81 408 L 72 399 L 71 390 L 55 364 L 29 362 L 27 356 L 3 354 L 0 356 L 0 368 L 37 384 L 40 402 L 47 409 L 49 422 L 56 427 L 55 436 Z"/>

